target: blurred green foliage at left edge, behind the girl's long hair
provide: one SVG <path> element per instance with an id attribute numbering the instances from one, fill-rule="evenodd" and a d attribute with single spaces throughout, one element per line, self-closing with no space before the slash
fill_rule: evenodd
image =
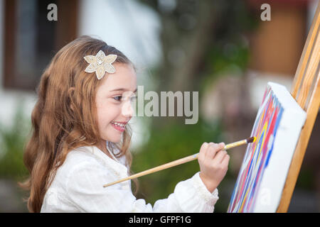
<path id="1" fill-rule="evenodd" d="M 28 171 L 23 164 L 23 146 L 31 123 L 23 115 L 22 103 L 14 116 L 11 128 L 0 125 L 0 177 L 20 180 L 26 177 Z"/>

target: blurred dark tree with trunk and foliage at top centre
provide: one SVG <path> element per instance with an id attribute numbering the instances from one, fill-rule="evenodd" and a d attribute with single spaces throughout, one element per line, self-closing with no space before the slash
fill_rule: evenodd
<path id="1" fill-rule="evenodd" d="M 159 13 L 164 59 L 156 70 L 158 92 L 200 91 L 223 70 L 245 70 L 248 62 L 246 31 L 257 20 L 246 1 L 141 0 Z M 156 128 L 164 121 L 154 118 Z"/>

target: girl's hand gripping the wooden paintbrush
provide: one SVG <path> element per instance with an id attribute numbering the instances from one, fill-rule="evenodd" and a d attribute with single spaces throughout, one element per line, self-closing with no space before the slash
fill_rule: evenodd
<path id="1" fill-rule="evenodd" d="M 203 143 L 198 155 L 200 178 L 211 193 L 218 187 L 228 170 L 230 156 L 225 143 Z"/>

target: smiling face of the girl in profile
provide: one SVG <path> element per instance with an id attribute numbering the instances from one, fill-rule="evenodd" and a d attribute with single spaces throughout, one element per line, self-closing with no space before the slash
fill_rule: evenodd
<path id="1" fill-rule="evenodd" d="M 102 141 L 119 143 L 125 124 L 132 118 L 131 101 L 137 92 L 137 75 L 129 64 L 114 62 L 115 73 L 105 74 L 97 89 L 97 123 Z"/>

